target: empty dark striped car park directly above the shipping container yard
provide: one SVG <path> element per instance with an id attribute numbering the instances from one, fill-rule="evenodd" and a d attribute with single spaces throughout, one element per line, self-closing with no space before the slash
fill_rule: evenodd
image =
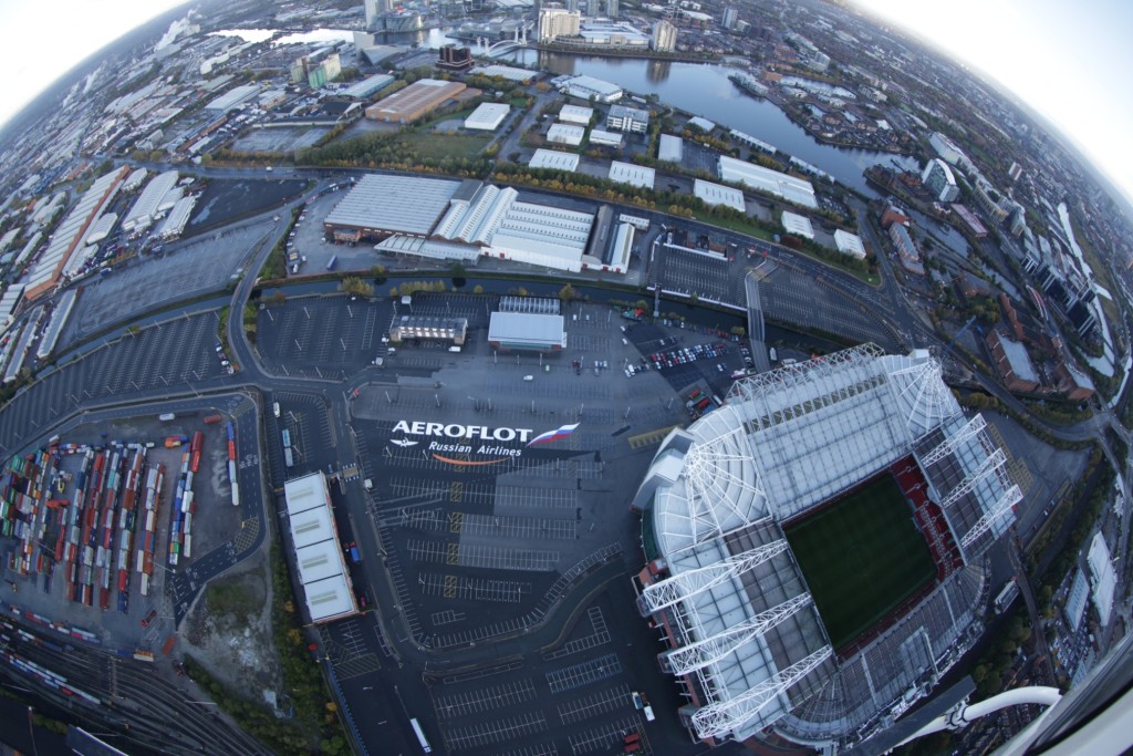
<path id="1" fill-rule="evenodd" d="M 16 449 L 52 418 L 88 401 L 163 388 L 184 392 L 225 374 L 216 356 L 216 314 L 178 317 L 70 362 L 17 394 L 0 415 L 0 445 Z"/>

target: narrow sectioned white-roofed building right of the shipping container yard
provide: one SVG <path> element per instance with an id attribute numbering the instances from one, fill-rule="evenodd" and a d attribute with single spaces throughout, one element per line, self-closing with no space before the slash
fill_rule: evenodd
<path id="1" fill-rule="evenodd" d="M 358 613 L 323 473 L 283 484 L 287 521 L 304 606 L 315 625 Z"/>

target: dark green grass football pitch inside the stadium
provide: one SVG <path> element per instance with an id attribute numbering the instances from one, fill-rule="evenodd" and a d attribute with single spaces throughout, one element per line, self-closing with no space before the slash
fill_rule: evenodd
<path id="1" fill-rule="evenodd" d="M 785 534 L 835 648 L 936 576 L 925 536 L 889 475 L 791 525 Z"/>

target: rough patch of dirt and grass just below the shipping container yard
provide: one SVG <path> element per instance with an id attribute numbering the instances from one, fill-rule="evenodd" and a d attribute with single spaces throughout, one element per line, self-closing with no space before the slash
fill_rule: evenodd
<path id="1" fill-rule="evenodd" d="M 282 680 L 272 642 L 272 587 L 263 552 L 208 584 L 185 618 L 187 649 L 231 690 L 258 700 Z"/>

